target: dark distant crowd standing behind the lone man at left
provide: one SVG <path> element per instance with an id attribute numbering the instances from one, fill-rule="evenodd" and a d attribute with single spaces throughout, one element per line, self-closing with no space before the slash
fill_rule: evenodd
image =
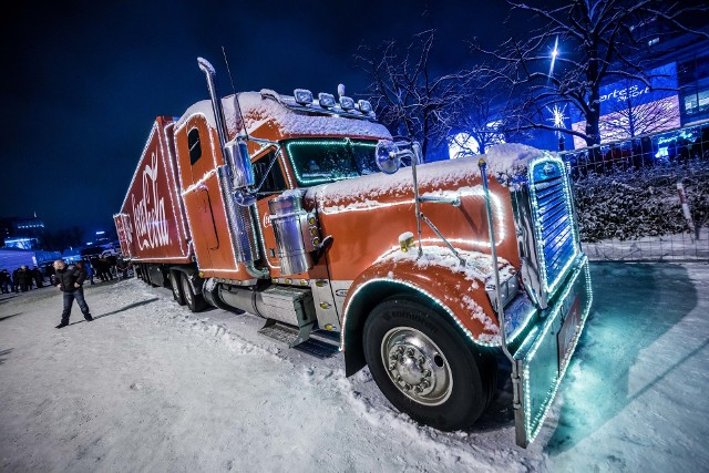
<path id="1" fill-rule="evenodd" d="M 114 279 L 127 279 L 130 277 L 131 264 L 122 257 L 109 255 L 105 257 L 86 257 L 75 263 L 86 274 L 86 279 L 94 285 L 97 282 L 111 281 Z M 44 286 L 54 286 L 55 269 L 50 263 L 43 269 L 37 266 L 29 268 L 21 266 L 12 271 L 0 270 L 0 290 L 2 294 L 27 292 Z"/>

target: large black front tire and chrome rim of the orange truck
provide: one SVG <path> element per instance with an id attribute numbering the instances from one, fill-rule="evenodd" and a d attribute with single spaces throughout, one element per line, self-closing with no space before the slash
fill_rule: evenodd
<path id="1" fill-rule="evenodd" d="M 364 358 L 387 399 L 414 421 L 439 430 L 465 429 L 487 405 L 486 360 L 418 298 L 394 296 L 364 323 Z"/>

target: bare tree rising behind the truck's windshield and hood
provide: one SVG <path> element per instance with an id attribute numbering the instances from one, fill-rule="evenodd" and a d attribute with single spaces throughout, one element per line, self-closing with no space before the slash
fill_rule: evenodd
<path id="1" fill-rule="evenodd" d="M 433 74 L 433 40 L 434 31 L 429 30 L 404 49 L 391 40 L 373 52 L 362 47 L 356 55 L 371 80 L 368 93 L 382 123 L 400 137 L 420 142 L 424 156 L 431 144 L 448 137 L 449 109 L 462 97 L 461 84 L 470 78 L 466 71 Z"/>

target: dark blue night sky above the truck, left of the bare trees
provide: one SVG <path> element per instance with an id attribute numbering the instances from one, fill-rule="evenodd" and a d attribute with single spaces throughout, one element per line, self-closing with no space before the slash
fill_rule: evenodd
<path id="1" fill-rule="evenodd" d="M 408 44 L 436 29 L 434 71 L 470 65 L 465 41 L 506 38 L 502 1 L 16 2 L 2 19 L 0 217 L 37 213 L 48 230 L 112 227 L 151 125 L 208 97 L 296 88 L 358 96 L 360 44 Z M 361 97 L 361 96 L 360 96 Z"/>

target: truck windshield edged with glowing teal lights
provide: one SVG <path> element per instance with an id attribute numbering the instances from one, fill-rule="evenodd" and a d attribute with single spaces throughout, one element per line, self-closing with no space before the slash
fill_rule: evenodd
<path id="1" fill-rule="evenodd" d="M 350 138 L 291 140 L 286 151 L 299 186 L 314 186 L 377 173 L 377 142 Z"/>

